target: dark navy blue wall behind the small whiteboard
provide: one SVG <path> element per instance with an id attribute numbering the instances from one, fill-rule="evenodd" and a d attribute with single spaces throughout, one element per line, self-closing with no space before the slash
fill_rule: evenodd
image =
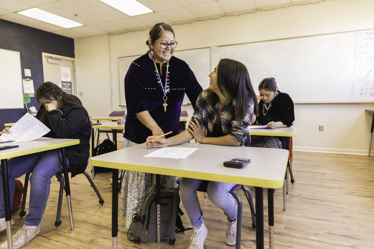
<path id="1" fill-rule="evenodd" d="M 42 52 L 74 58 L 74 39 L 0 19 L 0 49 L 21 53 L 22 78 L 26 78 L 24 69 L 31 69 L 31 77 L 27 78 L 34 81 L 37 89 L 44 82 Z M 0 91 L 6 94 L 5 89 Z M 35 98 L 31 98 L 27 106 L 39 110 Z M 26 108 L 0 109 L 0 131 L 4 129 L 4 123 L 16 122 L 26 112 Z"/>

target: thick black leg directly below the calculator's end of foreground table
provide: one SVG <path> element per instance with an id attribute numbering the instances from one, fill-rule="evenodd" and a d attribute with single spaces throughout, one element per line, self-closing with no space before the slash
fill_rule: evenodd
<path id="1" fill-rule="evenodd" d="M 263 189 L 256 187 L 256 249 L 264 249 L 264 196 Z"/>

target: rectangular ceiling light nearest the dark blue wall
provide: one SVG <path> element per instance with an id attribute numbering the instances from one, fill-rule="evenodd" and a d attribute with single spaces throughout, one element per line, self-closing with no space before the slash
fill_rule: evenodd
<path id="1" fill-rule="evenodd" d="M 39 21 L 47 22 L 49 24 L 53 24 L 62 28 L 76 28 L 84 26 L 79 22 L 74 22 L 69 19 L 63 18 L 62 16 L 58 16 L 44 10 L 38 8 L 32 8 L 27 10 L 22 10 L 20 12 L 16 12 L 17 14 L 28 16 Z"/>

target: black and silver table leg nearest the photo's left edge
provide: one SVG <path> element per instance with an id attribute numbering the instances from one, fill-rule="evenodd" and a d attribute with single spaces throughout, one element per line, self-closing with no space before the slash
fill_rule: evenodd
<path id="1" fill-rule="evenodd" d="M 10 215 L 10 195 L 9 195 L 9 181 L 8 181 L 8 160 L 1 159 L 1 172 L 3 173 L 3 194 L 5 205 L 5 223 L 6 223 L 6 240 L 8 242 L 8 249 L 13 249 L 12 240 L 12 216 Z"/>

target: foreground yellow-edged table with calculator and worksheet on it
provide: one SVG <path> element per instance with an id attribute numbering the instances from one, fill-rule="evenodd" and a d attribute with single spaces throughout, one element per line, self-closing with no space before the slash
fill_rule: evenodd
<path id="1" fill-rule="evenodd" d="M 159 148 L 147 149 L 145 143 L 126 149 L 117 150 L 91 158 L 91 164 L 106 168 L 113 168 L 113 179 L 118 178 L 117 169 L 134 170 L 159 175 L 178 175 L 178 177 L 197 178 L 202 180 L 230 182 L 236 184 L 256 186 L 256 240 L 257 248 L 264 248 L 264 220 L 263 220 L 263 188 L 273 189 L 282 187 L 288 161 L 288 150 L 256 147 L 218 146 L 211 144 L 184 143 L 175 147 L 198 148 L 186 159 L 145 158 L 143 156 Z M 249 158 L 251 162 L 242 169 L 226 168 L 224 161 L 232 158 Z M 159 180 L 158 180 L 159 182 Z M 113 181 L 112 190 L 112 248 L 117 248 L 118 232 L 118 194 L 117 181 Z M 158 188 L 158 189 L 157 189 Z M 156 184 L 156 194 L 159 193 Z M 156 204 L 160 199 L 156 196 Z M 274 209 L 273 194 L 268 194 L 269 203 L 269 243 L 273 244 Z M 160 217 L 159 206 L 156 210 Z M 239 212 L 240 210 L 238 210 Z M 161 217 L 162 219 L 162 217 Z M 159 219 L 158 219 L 159 220 Z M 225 222 L 225 221 L 222 221 Z M 237 224 L 237 241 L 240 241 L 241 224 Z M 172 227 L 172 230 L 175 228 Z M 158 225 L 157 235 L 160 234 Z M 171 238 L 169 241 L 172 241 Z M 160 238 L 157 236 L 157 243 Z M 170 242 L 169 242 L 170 243 Z M 173 244 L 174 245 L 174 244 Z M 240 242 L 236 243 L 240 248 Z M 272 248 L 272 247 L 271 247 Z"/>

